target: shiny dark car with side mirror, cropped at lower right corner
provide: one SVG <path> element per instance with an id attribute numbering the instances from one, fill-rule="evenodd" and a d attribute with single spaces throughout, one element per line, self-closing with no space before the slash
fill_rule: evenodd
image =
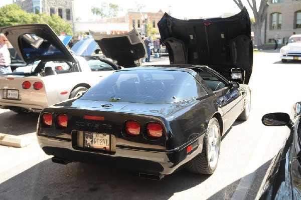
<path id="1" fill-rule="evenodd" d="M 288 137 L 271 162 L 256 199 L 301 199 L 301 102 L 287 113 L 268 113 L 266 126 L 287 126 Z M 286 132 L 283 134 L 287 134 Z"/>

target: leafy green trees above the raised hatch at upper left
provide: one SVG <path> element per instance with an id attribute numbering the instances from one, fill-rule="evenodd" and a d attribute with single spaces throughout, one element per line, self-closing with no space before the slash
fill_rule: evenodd
<path id="1" fill-rule="evenodd" d="M 46 16 L 23 11 L 17 4 L 10 4 L 0 8 L 0 27 L 21 24 L 48 24 L 56 34 L 65 32 L 73 35 L 71 25 L 64 22 L 58 15 Z"/>

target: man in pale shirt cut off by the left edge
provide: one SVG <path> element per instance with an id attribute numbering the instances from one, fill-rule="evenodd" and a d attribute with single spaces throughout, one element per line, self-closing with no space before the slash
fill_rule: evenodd
<path id="1" fill-rule="evenodd" d="M 1 33 L 0 34 L 0 75 L 12 73 L 12 69 L 10 67 L 11 64 L 11 55 L 8 50 L 8 39 L 7 37 Z"/>

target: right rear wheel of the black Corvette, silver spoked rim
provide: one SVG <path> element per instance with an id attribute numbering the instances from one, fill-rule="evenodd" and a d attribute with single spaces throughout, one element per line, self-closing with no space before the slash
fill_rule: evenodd
<path id="1" fill-rule="evenodd" d="M 186 169 L 192 173 L 213 174 L 217 167 L 220 146 L 220 126 L 218 120 L 212 118 L 205 133 L 202 152 L 187 163 Z"/>

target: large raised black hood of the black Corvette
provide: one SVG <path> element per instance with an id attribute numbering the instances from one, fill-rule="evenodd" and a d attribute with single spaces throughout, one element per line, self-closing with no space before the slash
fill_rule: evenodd
<path id="1" fill-rule="evenodd" d="M 206 65 L 228 79 L 231 70 L 240 70 L 242 82 L 249 82 L 253 46 L 245 8 L 229 18 L 179 20 L 165 13 L 158 28 L 171 64 Z"/>

